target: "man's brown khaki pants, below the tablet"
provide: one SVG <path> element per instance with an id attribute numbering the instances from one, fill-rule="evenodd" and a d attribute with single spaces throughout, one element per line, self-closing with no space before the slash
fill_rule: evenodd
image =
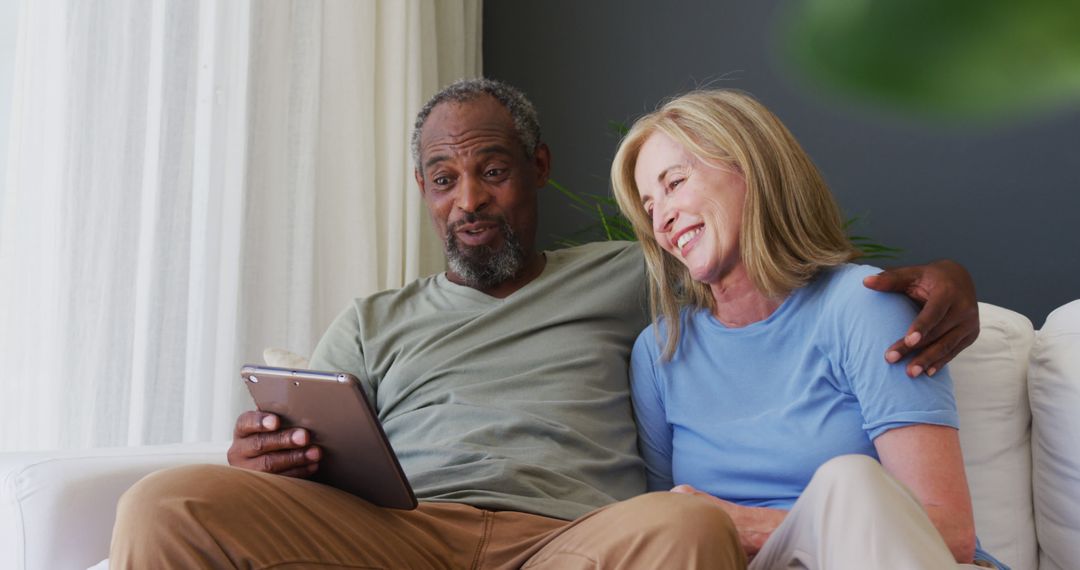
<path id="1" fill-rule="evenodd" d="M 742 569 L 731 519 L 700 498 L 644 494 L 565 521 L 458 503 L 374 506 L 311 481 L 186 466 L 121 499 L 111 568 Z"/>

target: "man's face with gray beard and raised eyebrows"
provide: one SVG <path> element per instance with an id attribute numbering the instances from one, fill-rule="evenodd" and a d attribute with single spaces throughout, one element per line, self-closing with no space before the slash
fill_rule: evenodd
<path id="1" fill-rule="evenodd" d="M 495 98 L 436 106 L 420 132 L 417 184 L 443 236 L 450 277 L 486 288 L 513 277 L 534 255 L 536 191 L 549 153 L 529 159 L 510 112 Z"/>

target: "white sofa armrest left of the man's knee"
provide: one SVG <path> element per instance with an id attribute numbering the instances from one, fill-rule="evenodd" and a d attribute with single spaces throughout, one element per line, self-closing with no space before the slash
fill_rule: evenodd
<path id="1" fill-rule="evenodd" d="M 225 463 L 228 443 L 0 453 L 0 568 L 86 568 L 109 555 L 120 496 L 145 475 Z M 63 547 L 57 547 L 63 545 Z"/>

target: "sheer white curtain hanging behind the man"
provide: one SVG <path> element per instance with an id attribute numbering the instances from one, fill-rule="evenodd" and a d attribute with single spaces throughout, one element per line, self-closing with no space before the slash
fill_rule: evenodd
<path id="1" fill-rule="evenodd" d="M 408 133 L 480 4 L 24 2 L 0 450 L 228 439 L 242 363 L 440 271 Z"/>

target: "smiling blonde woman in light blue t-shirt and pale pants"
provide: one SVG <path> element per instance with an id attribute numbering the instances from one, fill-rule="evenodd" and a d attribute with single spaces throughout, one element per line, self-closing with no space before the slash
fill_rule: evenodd
<path id="1" fill-rule="evenodd" d="M 881 358 L 915 309 L 863 287 L 878 270 L 849 262 L 781 122 L 740 92 L 689 93 L 634 124 L 611 178 L 650 275 L 632 355 L 650 490 L 719 504 L 751 568 L 999 567 L 977 547 L 948 371 Z"/>

